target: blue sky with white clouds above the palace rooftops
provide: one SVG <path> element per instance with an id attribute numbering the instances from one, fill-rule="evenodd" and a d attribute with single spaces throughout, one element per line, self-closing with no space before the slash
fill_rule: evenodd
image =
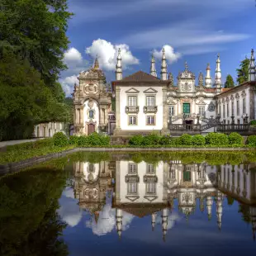
<path id="1" fill-rule="evenodd" d="M 256 49 L 255 0 L 69 0 L 69 11 L 69 69 L 59 78 L 67 97 L 96 55 L 107 82 L 115 80 L 119 48 L 126 77 L 149 73 L 152 54 L 159 76 L 164 47 L 174 82 L 186 61 L 197 78 L 209 63 L 214 78 L 220 53 L 223 83 L 228 73 L 236 78 L 239 62 Z"/>

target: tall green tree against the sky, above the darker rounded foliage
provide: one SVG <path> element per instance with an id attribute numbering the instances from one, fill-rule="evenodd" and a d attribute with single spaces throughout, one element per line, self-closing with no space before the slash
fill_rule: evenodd
<path id="1" fill-rule="evenodd" d="M 41 78 L 54 88 L 66 69 L 64 51 L 68 20 L 67 0 L 2 0 L 0 6 L 0 52 L 12 50 L 28 59 Z"/>

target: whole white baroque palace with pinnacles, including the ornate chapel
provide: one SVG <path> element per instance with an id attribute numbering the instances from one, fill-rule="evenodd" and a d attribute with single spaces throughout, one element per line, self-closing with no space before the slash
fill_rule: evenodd
<path id="1" fill-rule="evenodd" d="M 178 73 L 178 83 L 174 84 L 163 49 L 160 78 L 154 56 L 150 73 L 138 71 L 123 78 L 119 50 L 116 81 L 111 82 L 111 89 L 97 58 L 92 69 L 79 74 L 79 85 L 75 84 L 73 92 L 74 134 L 105 131 L 124 136 L 156 131 L 161 135 L 181 135 L 249 129 L 249 121 L 256 116 L 255 73 L 252 50 L 249 81 L 235 88 L 223 88 L 220 55 L 214 79 L 210 64 L 206 66 L 205 78 L 199 73 L 196 81 L 186 63 L 183 72 Z M 112 97 L 116 99 L 115 112 L 111 111 Z"/>

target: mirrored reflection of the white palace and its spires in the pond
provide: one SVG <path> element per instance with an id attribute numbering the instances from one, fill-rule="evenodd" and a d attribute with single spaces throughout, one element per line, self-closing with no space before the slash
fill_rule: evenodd
<path id="1" fill-rule="evenodd" d="M 151 215 L 153 230 L 157 212 L 161 211 L 165 238 L 174 200 L 187 220 L 197 207 L 207 212 L 209 220 L 215 214 L 220 229 L 223 201 L 228 195 L 249 205 L 249 221 L 255 238 L 256 178 L 248 165 L 216 167 L 180 161 L 136 164 L 127 160 L 98 164 L 78 162 L 74 164 L 73 189 L 80 208 L 94 216 L 96 222 L 106 204 L 107 192 L 113 192 L 112 208 L 116 209 L 116 231 L 120 237 L 123 211 L 138 217 Z M 212 212 L 214 204 L 216 212 Z"/>

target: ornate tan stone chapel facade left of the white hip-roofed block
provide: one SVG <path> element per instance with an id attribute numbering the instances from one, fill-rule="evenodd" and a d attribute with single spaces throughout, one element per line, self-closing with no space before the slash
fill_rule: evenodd
<path id="1" fill-rule="evenodd" d="M 73 135 L 89 135 L 92 132 L 106 132 L 108 112 L 111 111 L 111 92 L 107 92 L 104 73 L 98 60 L 94 67 L 78 76 L 79 84 L 73 92 Z"/>

